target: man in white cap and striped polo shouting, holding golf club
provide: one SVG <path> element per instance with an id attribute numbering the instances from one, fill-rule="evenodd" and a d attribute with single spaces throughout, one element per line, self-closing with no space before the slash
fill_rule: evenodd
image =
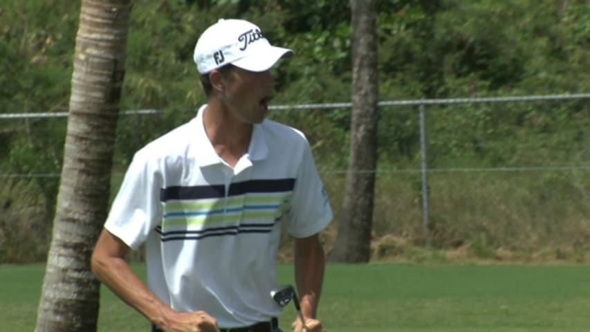
<path id="1" fill-rule="evenodd" d="M 268 71 L 292 54 L 248 21 L 219 20 L 194 50 L 208 104 L 133 157 L 92 269 L 152 331 L 280 331 L 270 291 L 283 226 L 295 238 L 305 321 L 296 319 L 293 331 L 324 331 L 317 234 L 331 208 L 304 135 L 264 119 Z M 147 286 L 125 262 L 142 243 Z"/>

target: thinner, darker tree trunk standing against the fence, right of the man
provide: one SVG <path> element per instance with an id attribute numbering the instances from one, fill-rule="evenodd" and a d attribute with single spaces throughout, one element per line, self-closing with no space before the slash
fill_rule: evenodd
<path id="1" fill-rule="evenodd" d="M 330 260 L 363 263 L 371 258 L 377 163 L 378 73 L 376 0 L 352 1 L 353 91 L 350 163 Z"/>

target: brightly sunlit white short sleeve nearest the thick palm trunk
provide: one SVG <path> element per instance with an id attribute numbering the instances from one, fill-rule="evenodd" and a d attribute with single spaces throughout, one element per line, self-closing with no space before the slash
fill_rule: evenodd
<path id="1" fill-rule="evenodd" d="M 104 228 L 133 249 L 147 239 L 162 217 L 162 176 L 151 163 L 141 151 L 133 156 L 104 223 Z"/>

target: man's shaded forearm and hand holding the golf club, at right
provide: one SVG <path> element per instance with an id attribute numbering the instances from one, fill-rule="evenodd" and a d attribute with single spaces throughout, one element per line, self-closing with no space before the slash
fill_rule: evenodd
<path id="1" fill-rule="evenodd" d="M 295 239 L 295 283 L 299 291 L 301 312 L 305 317 L 308 331 L 323 331 L 317 321 L 317 305 L 320 302 L 325 268 L 324 248 L 317 234 Z M 294 331 L 300 330 L 298 320 Z"/>

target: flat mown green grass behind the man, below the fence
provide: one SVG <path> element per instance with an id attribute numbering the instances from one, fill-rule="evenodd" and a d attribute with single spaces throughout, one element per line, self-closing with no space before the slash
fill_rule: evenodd
<path id="1" fill-rule="evenodd" d="M 1 331 L 33 331 L 43 273 L 41 265 L 0 266 Z M 281 284 L 292 275 L 279 266 Z M 99 331 L 149 331 L 106 288 L 101 301 Z M 582 332 L 589 313 L 590 266 L 331 265 L 320 306 L 329 332 Z M 285 331 L 294 317 L 289 305 Z"/>

